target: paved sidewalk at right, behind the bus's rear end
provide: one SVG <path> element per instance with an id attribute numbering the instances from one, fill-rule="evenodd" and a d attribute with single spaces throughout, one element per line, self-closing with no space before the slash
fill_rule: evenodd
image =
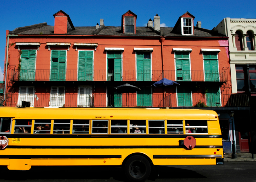
<path id="1" fill-rule="evenodd" d="M 231 154 L 224 154 L 224 162 L 256 162 L 256 154 L 254 154 L 254 159 L 252 159 L 252 154 L 241 153 L 236 154 L 237 159 L 231 159 Z"/>

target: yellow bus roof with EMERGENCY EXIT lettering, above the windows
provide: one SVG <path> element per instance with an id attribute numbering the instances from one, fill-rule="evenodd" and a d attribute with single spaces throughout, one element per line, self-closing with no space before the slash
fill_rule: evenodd
<path id="1" fill-rule="evenodd" d="M 0 117 L 31 120 L 217 120 L 216 116 L 215 111 L 200 109 L 0 107 Z"/>

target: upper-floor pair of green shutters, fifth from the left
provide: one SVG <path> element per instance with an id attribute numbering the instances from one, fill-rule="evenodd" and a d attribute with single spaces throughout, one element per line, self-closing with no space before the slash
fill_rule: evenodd
<path id="1" fill-rule="evenodd" d="M 144 59 L 143 52 L 137 54 L 137 81 L 151 81 L 151 59 Z"/>

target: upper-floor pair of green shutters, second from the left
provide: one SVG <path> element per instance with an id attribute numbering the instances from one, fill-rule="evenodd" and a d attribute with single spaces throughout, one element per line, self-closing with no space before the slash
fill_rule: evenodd
<path id="1" fill-rule="evenodd" d="M 51 52 L 51 80 L 65 80 L 66 51 Z"/>

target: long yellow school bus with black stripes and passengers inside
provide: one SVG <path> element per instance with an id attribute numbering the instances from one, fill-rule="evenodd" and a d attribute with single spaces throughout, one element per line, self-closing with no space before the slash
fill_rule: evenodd
<path id="1" fill-rule="evenodd" d="M 121 165 L 143 181 L 154 165 L 223 164 L 212 110 L 0 107 L 0 117 L 0 165 L 9 170 Z"/>

